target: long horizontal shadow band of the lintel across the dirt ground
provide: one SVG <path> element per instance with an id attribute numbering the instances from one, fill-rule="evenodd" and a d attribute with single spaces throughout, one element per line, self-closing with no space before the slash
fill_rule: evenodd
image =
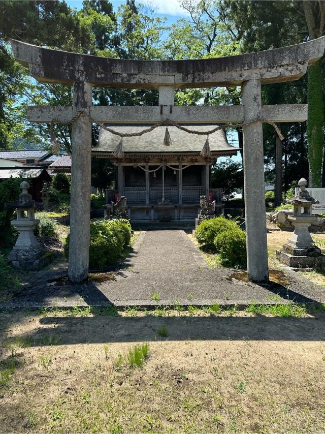
<path id="1" fill-rule="evenodd" d="M 161 326 L 168 330 L 162 338 Z M 45 317 L 37 321 L 31 337 L 59 336 L 59 345 L 144 342 L 153 340 L 292 340 L 325 339 L 325 315 L 281 318 L 256 316 L 210 317 Z"/>

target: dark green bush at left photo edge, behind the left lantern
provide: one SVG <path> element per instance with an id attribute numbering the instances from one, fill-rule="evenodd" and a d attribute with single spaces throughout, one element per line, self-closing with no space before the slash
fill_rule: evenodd
<path id="1" fill-rule="evenodd" d="M 12 246 L 15 243 L 16 230 L 11 226 L 15 209 L 4 208 L 4 203 L 12 203 L 21 194 L 20 184 L 22 178 L 6 179 L 0 182 L 0 245 L 3 247 Z"/>

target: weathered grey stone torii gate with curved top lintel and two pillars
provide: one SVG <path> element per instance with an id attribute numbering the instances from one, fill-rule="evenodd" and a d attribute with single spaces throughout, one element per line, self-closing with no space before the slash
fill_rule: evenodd
<path id="1" fill-rule="evenodd" d="M 72 107 L 29 107 L 28 120 L 72 123 L 69 277 L 88 275 L 91 121 L 105 123 L 243 122 L 247 268 L 252 281 L 268 280 L 263 120 L 307 119 L 307 105 L 263 106 L 261 84 L 297 80 L 324 52 L 325 37 L 250 54 L 202 60 L 127 60 L 51 50 L 11 41 L 15 58 L 40 82 L 73 86 Z M 157 107 L 92 106 L 92 87 L 159 89 Z M 241 86 L 240 106 L 174 106 L 175 88 Z M 87 116 L 88 115 L 88 116 Z"/>

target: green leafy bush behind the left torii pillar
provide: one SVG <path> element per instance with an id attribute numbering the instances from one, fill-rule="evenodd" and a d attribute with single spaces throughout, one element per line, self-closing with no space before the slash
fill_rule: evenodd
<path id="1" fill-rule="evenodd" d="M 89 267 L 103 270 L 116 264 L 131 239 L 131 225 L 125 220 L 98 221 L 90 223 Z M 68 235 L 64 253 L 69 257 Z"/>

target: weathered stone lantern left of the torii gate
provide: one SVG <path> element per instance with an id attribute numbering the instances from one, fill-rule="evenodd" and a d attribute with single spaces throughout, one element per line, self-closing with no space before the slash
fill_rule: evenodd
<path id="1" fill-rule="evenodd" d="M 37 242 L 33 230 L 39 224 L 35 219 L 35 209 L 42 208 L 43 202 L 37 203 L 28 194 L 29 184 L 23 181 L 20 184 L 22 194 L 14 203 L 5 203 L 6 208 L 16 208 L 17 218 L 11 224 L 17 228 L 19 235 L 8 261 L 16 269 L 38 269 L 41 266 L 41 257 L 45 249 Z"/>

